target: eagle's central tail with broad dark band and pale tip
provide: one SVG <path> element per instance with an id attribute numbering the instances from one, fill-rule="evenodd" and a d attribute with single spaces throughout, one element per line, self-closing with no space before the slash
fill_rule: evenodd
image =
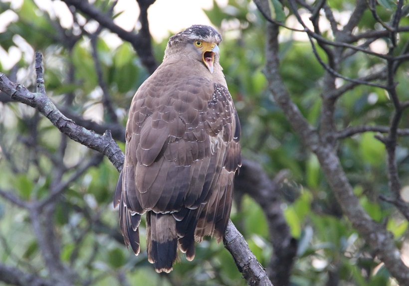
<path id="1" fill-rule="evenodd" d="M 155 264 L 156 272 L 169 273 L 177 258 L 178 235 L 172 214 L 146 214 L 146 244 L 148 260 Z"/>

